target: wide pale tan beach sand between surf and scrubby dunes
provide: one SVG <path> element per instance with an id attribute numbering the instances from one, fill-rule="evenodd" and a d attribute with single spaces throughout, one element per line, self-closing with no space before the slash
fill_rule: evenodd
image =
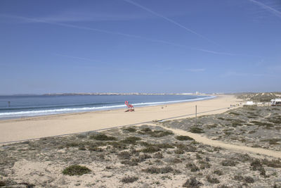
<path id="1" fill-rule="evenodd" d="M 240 104 L 241 99 L 233 95 L 218 95 L 214 99 L 204 101 L 191 101 L 179 104 L 166 104 L 161 106 L 147 106 L 136 108 L 135 112 L 124 113 L 126 108 L 112 111 L 95 111 L 88 113 L 71 113 L 63 115 L 46 115 L 16 120 L 0 120 L 0 142 L 13 142 L 24 139 L 51 137 L 60 134 L 72 134 L 100 130 L 122 125 L 144 123 L 152 120 L 162 120 L 181 115 L 197 113 L 200 115 L 223 113 L 230 105 Z M 218 108 L 224 108 L 218 111 Z M 181 118 L 191 118 L 189 115 Z"/>

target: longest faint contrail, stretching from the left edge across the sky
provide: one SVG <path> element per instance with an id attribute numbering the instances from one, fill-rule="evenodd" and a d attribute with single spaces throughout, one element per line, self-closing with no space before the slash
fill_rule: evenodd
<path id="1" fill-rule="evenodd" d="M 107 33 L 107 34 L 111 34 L 111 35 L 121 35 L 124 37 L 145 39 L 150 42 L 157 42 L 157 43 L 162 43 L 162 44 L 168 44 L 171 46 L 184 47 L 184 48 L 192 49 L 192 50 L 196 50 L 196 51 L 203 51 L 203 52 L 206 52 L 209 54 L 220 54 L 220 55 L 227 55 L 227 56 L 244 56 L 244 55 L 240 55 L 240 54 L 230 54 L 230 53 L 224 53 L 224 52 L 219 52 L 219 51 L 211 51 L 211 50 L 207 50 L 207 49 L 199 49 L 199 48 L 194 48 L 191 46 L 186 46 L 183 44 L 176 44 L 174 42 L 167 42 L 167 41 L 159 40 L 159 39 L 151 39 L 148 37 L 141 37 L 138 35 L 130 35 L 130 34 L 122 33 L 122 32 L 112 32 L 112 31 L 108 31 L 108 30 L 100 30 L 100 29 L 96 29 L 96 28 L 83 27 L 83 26 L 79 26 L 79 25 L 71 25 L 71 24 L 67 24 L 67 23 L 54 23 L 54 22 L 50 22 L 50 21 L 46 21 L 46 20 L 37 19 L 37 18 L 26 18 L 26 17 L 22 17 L 22 16 L 14 16 L 14 15 L 4 15 L 4 16 L 9 17 L 9 18 L 17 18 L 17 19 L 25 20 L 25 21 L 31 22 L 31 23 L 46 23 L 46 24 L 51 24 L 51 25 L 59 25 L 59 26 L 63 26 L 63 27 L 77 28 L 80 30 L 90 30 L 90 31 L 94 31 L 94 32 L 103 32 L 103 33 Z"/>

